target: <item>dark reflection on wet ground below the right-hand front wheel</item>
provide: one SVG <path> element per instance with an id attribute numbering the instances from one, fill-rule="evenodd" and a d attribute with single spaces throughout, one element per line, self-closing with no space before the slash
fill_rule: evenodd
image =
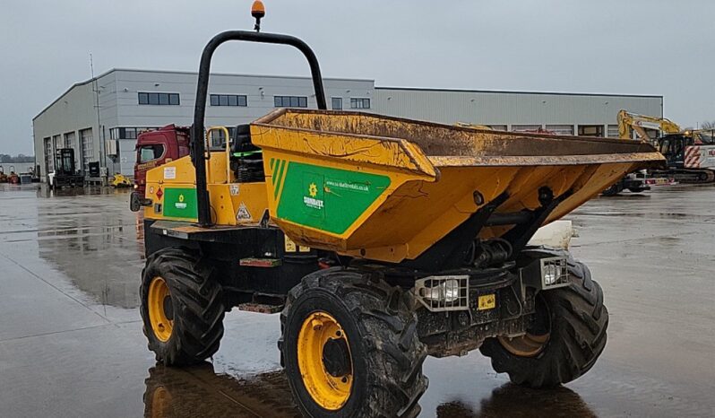
<path id="1" fill-rule="evenodd" d="M 460 401 L 437 406 L 439 418 L 492 418 L 492 417 L 580 417 L 597 415 L 583 402 L 581 396 L 569 388 L 538 390 L 521 388 L 507 383 L 495 388 L 491 396 L 471 407 Z"/>

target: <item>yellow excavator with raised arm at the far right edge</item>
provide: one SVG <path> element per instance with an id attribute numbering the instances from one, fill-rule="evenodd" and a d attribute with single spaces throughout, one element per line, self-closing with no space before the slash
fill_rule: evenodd
<path id="1" fill-rule="evenodd" d="M 651 137 L 646 129 L 659 132 Z M 623 139 L 638 139 L 653 144 L 666 157 L 666 170 L 651 170 L 654 177 L 672 178 L 681 183 L 715 181 L 715 139 L 707 129 L 683 130 L 667 118 L 656 118 L 621 110 L 618 134 Z"/>

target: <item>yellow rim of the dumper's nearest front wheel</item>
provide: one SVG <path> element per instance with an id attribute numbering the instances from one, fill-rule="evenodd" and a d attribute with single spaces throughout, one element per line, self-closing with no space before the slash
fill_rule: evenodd
<path id="1" fill-rule="evenodd" d="M 339 370 L 326 367 L 326 344 L 347 350 L 347 364 Z M 306 318 L 298 334 L 297 362 L 303 384 L 316 404 L 336 411 L 348 402 L 353 381 L 352 357 L 348 337 L 335 318 L 325 312 L 314 312 Z"/>

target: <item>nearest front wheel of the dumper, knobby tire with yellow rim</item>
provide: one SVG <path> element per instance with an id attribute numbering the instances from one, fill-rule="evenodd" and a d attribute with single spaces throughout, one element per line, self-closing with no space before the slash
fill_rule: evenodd
<path id="1" fill-rule="evenodd" d="M 331 268 L 304 277 L 289 292 L 280 315 L 279 341 L 300 411 L 314 418 L 416 417 L 427 387 L 422 374 L 426 347 L 419 341 L 412 306 L 411 293 L 371 274 Z M 317 345 L 323 355 L 311 354 L 306 347 L 328 329 L 333 335 L 329 343 Z M 342 352 L 334 349 L 338 346 Z M 335 358 L 342 361 L 337 370 L 330 360 Z M 314 366 L 309 359 L 322 363 Z M 330 386 L 331 381 L 338 383 Z M 321 392 L 323 382 L 329 385 Z"/>

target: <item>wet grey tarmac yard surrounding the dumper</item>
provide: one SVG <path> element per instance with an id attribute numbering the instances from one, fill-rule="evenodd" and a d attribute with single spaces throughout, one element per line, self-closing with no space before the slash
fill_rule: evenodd
<path id="1" fill-rule="evenodd" d="M 137 309 L 141 222 L 125 190 L 0 185 L 0 416 L 297 416 L 277 315 L 230 312 L 212 363 L 155 364 Z M 597 198 L 569 215 L 606 292 L 606 350 L 550 391 L 479 353 L 428 359 L 421 416 L 715 416 L 715 187 Z"/>

